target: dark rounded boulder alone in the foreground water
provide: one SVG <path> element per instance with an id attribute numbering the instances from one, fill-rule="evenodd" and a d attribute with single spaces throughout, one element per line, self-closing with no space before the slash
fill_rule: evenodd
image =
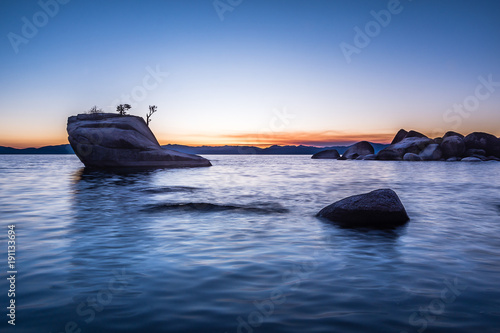
<path id="1" fill-rule="evenodd" d="M 316 216 L 348 227 L 387 228 L 409 220 L 401 200 L 391 189 L 342 199 L 323 208 Z"/>

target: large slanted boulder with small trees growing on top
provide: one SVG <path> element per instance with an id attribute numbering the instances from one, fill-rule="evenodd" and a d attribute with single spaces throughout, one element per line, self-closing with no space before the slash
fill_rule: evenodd
<path id="1" fill-rule="evenodd" d="M 68 118 L 68 140 L 87 167 L 175 168 L 210 166 L 197 155 L 163 149 L 143 118 L 114 113 Z"/>

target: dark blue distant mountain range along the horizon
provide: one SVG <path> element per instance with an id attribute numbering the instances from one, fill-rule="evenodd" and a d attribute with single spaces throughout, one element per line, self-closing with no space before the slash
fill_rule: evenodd
<path id="1" fill-rule="evenodd" d="M 384 149 L 388 145 L 380 143 L 371 143 L 375 149 L 375 153 Z M 349 146 L 331 146 L 331 147 L 314 147 L 314 146 L 271 146 L 267 148 L 259 148 L 253 146 L 201 146 L 191 147 L 184 145 L 164 145 L 163 148 L 176 150 L 182 153 L 198 154 L 198 155 L 313 155 L 317 152 L 326 149 L 337 149 L 340 154 L 343 154 Z M 58 146 L 46 146 L 40 148 L 25 148 L 17 149 L 0 146 L 0 154 L 74 154 L 73 149 L 69 144 Z"/>

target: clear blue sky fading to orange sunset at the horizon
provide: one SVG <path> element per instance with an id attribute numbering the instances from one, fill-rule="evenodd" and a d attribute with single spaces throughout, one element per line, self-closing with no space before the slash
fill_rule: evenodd
<path id="1" fill-rule="evenodd" d="M 500 135 L 500 2 L 3 0 L 0 145 L 130 103 L 162 144 Z M 124 96 L 129 96 L 124 97 Z M 462 106 L 461 106 L 462 105 Z"/>

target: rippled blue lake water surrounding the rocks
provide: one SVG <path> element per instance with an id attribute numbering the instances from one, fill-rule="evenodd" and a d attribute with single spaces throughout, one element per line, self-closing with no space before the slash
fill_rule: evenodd
<path id="1" fill-rule="evenodd" d="M 2 332 L 500 332 L 500 163 L 206 156 L 213 167 L 86 171 L 0 155 Z M 392 188 L 411 221 L 316 218 Z"/>

